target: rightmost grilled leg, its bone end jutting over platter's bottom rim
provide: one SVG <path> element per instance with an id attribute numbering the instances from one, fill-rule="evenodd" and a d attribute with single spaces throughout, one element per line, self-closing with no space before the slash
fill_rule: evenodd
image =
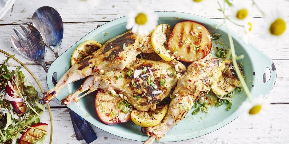
<path id="1" fill-rule="evenodd" d="M 169 110 L 163 121 L 153 127 L 141 128 L 144 134 L 151 136 L 145 144 L 153 143 L 163 137 L 171 128 L 179 123 L 194 102 L 206 95 L 210 90 L 210 77 L 219 66 L 219 59 L 209 54 L 205 58 L 194 61 L 188 70 L 180 77 Z"/>

